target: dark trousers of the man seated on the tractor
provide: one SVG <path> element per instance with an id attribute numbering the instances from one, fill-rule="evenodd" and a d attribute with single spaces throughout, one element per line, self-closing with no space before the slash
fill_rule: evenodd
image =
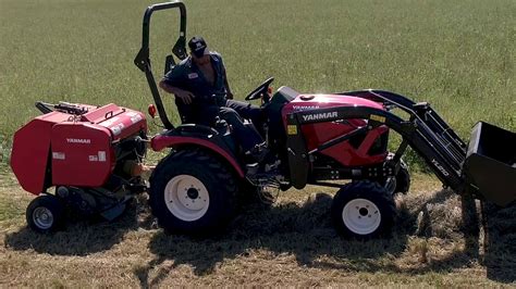
<path id="1" fill-rule="evenodd" d="M 261 110 L 258 106 L 235 100 L 222 100 L 218 104 L 194 104 L 185 105 L 176 101 L 183 123 L 194 123 L 207 126 L 213 126 L 217 116 L 224 120 L 233 128 L 233 135 L 244 151 L 249 151 L 255 146 L 263 142 L 260 133 L 253 126 L 244 125 L 247 118 L 262 130 L 263 118 Z"/>

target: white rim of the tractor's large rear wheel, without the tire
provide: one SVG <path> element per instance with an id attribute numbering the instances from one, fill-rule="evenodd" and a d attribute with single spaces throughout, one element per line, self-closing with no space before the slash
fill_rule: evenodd
<path id="1" fill-rule="evenodd" d="M 164 201 L 175 217 L 193 222 L 206 214 L 210 205 L 210 196 L 198 178 L 191 175 L 179 175 L 167 184 Z"/>

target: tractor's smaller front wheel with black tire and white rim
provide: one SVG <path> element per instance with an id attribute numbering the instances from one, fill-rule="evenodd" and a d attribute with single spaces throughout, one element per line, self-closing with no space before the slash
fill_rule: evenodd
<path id="1" fill-rule="evenodd" d="M 369 239 L 389 233 L 396 206 L 392 194 L 369 180 L 344 185 L 333 198 L 331 216 L 335 228 L 345 237 Z"/>

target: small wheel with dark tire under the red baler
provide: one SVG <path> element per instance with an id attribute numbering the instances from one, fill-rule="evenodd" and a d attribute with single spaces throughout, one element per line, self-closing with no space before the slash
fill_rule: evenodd
<path id="1" fill-rule="evenodd" d="M 29 228 L 37 233 L 56 231 L 64 225 L 65 206 L 61 199 L 44 194 L 34 199 L 27 206 L 25 217 Z"/>

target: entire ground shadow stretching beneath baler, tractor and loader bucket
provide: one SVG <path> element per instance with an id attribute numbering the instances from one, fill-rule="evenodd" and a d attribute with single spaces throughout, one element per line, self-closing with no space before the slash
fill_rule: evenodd
<path id="1" fill-rule="evenodd" d="M 113 222 L 74 222 L 51 235 L 24 227 L 7 234 L 4 243 L 13 250 L 56 255 L 107 251 L 120 243 L 127 231 L 156 228 L 143 199 Z M 343 239 L 336 234 L 329 214 L 332 197 L 327 193 L 312 194 L 304 203 L 248 204 L 217 237 L 197 239 L 156 230 L 148 243 L 156 257 L 134 268 L 133 274 L 143 287 L 156 286 L 181 265 L 191 266 L 197 276 L 207 276 L 224 260 L 266 250 L 272 255 L 292 254 L 306 267 L 365 273 L 451 273 L 478 262 L 491 280 L 516 280 L 516 205 L 500 209 L 460 200 L 449 190 L 396 201 L 398 216 L 391 236 L 369 241 Z M 457 210 L 462 212 L 458 217 L 454 214 Z M 417 266 L 396 265 L 395 260 L 410 252 L 414 238 L 433 237 L 445 242 L 464 241 L 464 247 Z M 173 265 L 160 266 L 165 261 Z"/>

